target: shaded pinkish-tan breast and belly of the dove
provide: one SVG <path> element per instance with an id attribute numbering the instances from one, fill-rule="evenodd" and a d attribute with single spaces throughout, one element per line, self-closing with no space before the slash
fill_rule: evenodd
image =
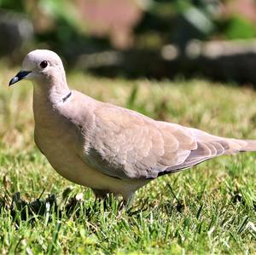
<path id="1" fill-rule="evenodd" d="M 108 177 L 87 165 L 78 153 L 81 144 L 86 147 L 84 134 L 81 134 L 79 125 L 73 123 L 72 116 L 67 118 L 55 109 L 41 107 L 34 109 L 34 117 L 35 142 L 50 165 L 62 177 L 73 183 L 94 189 L 108 190 L 123 196 L 128 196 L 131 191 L 145 184 L 140 181 L 128 182 Z"/>

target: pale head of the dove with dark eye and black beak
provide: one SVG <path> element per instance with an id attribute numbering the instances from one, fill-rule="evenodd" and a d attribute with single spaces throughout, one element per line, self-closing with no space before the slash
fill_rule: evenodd
<path id="1" fill-rule="evenodd" d="M 61 58 L 48 49 L 31 51 L 26 55 L 20 72 L 9 81 L 9 86 L 22 79 L 32 80 L 36 84 L 51 84 L 55 79 L 66 82 Z"/>

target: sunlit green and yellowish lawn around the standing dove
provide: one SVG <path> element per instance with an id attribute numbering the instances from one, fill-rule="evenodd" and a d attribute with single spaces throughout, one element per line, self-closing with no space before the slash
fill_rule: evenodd
<path id="1" fill-rule="evenodd" d="M 60 177 L 39 153 L 33 142 L 32 86 L 24 81 L 8 88 L 17 70 L 3 65 L 1 70 L 1 254 L 256 253 L 255 154 L 223 156 L 160 177 L 137 192 L 129 212 L 120 214 L 118 202 L 104 209 L 89 188 Z M 256 138 L 256 94 L 248 87 L 112 80 L 76 72 L 68 81 L 87 95 L 155 119 L 219 136 Z M 67 187 L 71 192 L 63 199 Z M 19 206 L 9 210 L 17 191 L 26 201 L 55 194 L 63 212 L 55 206 L 41 214 L 29 213 L 27 206 L 23 212 Z M 84 197 L 67 213 L 68 198 L 76 194 Z"/>

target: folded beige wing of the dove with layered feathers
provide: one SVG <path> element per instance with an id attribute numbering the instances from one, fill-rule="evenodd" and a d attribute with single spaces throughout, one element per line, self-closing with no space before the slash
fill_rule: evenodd
<path id="1" fill-rule="evenodd" d="M 90 145 L 80 148 L 79 155 L 96 170 L 120 179 L 156 178 L 224 154 L 228 148 L 218 136 L 108 104 L 96 107 L 94 122 Z"/>

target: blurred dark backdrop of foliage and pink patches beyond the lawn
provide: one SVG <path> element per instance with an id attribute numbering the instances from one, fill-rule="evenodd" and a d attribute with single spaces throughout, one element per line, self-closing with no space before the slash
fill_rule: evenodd
<path id="1" fill-rule="evenodd" d="M 44 48 L 102 76 L 256 84 L 255 25 L 253 0 L 0 0 L 0 57 Z"/>

